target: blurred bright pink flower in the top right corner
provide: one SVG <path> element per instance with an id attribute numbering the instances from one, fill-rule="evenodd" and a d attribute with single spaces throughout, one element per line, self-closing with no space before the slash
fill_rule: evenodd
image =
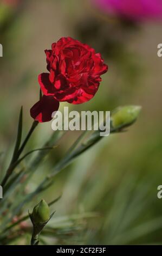
<path id="1" fill-rule="evenodd" d="M 162 0 L 92 0 L 103 11 L 127 19 L 162 19 Z"/>

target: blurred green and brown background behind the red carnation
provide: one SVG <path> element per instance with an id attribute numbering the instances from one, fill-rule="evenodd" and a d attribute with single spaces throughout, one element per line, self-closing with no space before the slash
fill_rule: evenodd
<path id="1" fill-rule="evenodd" d="M 33 121 L 29 109 L 38 100 L 37 76 L 46 71 L 44 50 L 62 36 L 72 36 L 101 52 L 109 70 L 92 100 L 68 106 L 79 111 L 111 111 L 131 104 L 141 105 L 142 111 L 127 132 L 103 138 L 62 170 L 54 185 L 23 211 L 32 209 L 42 197 L 49 202 L 62 194 L 51 220 L 55 232 L 44 236 L 47 244 L 162 244 L 162 199 L 157 198 L 157 187 L 162 184 L 162 58 L 157 56 L 161 22 L 109 15 L 94 2 L 1 0 L 1 177 L 14 147 L 21 105 L 24 135 Z M 51 133 L 50 123 L 38 125 L 27 150 L 41 147 Z M 37 169 L 28 192 L 77 136 L 79 132 L 69 131 L 61 139 Z M 28 238 L 24 233 L 11 244 L 28 243 Z"/>

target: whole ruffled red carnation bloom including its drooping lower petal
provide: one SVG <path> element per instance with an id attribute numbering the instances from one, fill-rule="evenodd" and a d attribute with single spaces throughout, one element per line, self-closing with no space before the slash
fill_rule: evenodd
<path id="1" fill-rule="evenodd" d="M 51 50 L 46 50 L 45 53 L 49 72 L 40 74 L 38 82 L 50 103 L 45 106 L 44 100 L 43 103 L 41 100 L 36 103 L 38 107 L 32 108 L 34 110 L 31 111 L 31 116 L 34 119 L 37 117 L 38 121 L 49 121 L 49 116 L 59 108 L 56 100 L 80 104 L 92 99 L 99 88 L 100 76 L 108 69 L 100 53 L 95 53 L 93 48 L 70 37 L 53 43 Z M 48 118 L 39 112 L 44 107 Z"/>

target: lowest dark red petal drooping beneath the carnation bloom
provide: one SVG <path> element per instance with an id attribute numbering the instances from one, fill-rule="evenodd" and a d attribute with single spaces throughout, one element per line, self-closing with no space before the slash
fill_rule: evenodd
<path id="1" fill-rule="evenodd" d="M 36 121 L 43 123 L 51 119 L 52 113 L 59 109 L 59 101 L 55 100 L 53 96 L 42 96 L 42 99 L 35 103 L 30 109 L 30 115 Z"/>

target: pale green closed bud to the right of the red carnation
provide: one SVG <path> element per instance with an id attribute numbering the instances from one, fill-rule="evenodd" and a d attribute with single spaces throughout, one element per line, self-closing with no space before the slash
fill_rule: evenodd
<path id="1" fill-rule="evenodd" d="M 112 113 L 111 121 L 114 128 L 129 126 L 138 118 L 140 106 L 118 107 Z"/>

